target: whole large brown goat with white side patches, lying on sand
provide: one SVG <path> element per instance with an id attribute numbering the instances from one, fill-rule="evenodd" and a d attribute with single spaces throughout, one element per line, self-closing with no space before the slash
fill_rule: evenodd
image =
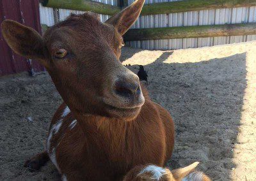
<path id="1" fill-rule="evenodd" d="M 51 159 L 63 180 L 136 180 L 154 173 L 147 164 L 157 171 L 170 159 L 175 137 L 170 114 L 150 100 L 138 76 L 119 61 L 122 35 L 144 1 L 105 23 L 92 12 L 70 15 L 43 37 L 3 21 L 8 45 L 45 66 L 65 102 L 52 118 L 47 150 L 25 166 L 38 170 Z M 131 178 L 141 164 L 146 170 Z"/>

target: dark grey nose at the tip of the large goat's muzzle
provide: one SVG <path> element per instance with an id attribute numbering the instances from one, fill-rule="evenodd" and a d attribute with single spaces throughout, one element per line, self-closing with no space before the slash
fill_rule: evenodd
<path id="1" fill-rule="evenodd" d="M 115 83 L 116 94 L 124 97 L 140 95 L 140 83 L 137 79 L 138 78 L 136 78 L 136 80 L 119 79 Z"/>

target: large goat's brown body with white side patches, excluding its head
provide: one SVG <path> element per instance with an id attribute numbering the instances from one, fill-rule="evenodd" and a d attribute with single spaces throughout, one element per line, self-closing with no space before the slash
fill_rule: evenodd
<path id="1" fill-rule="evenodd" d="M 95 115 L 76 118 L 63 103 L 47 140 L 52 163 L 68 180 L 121 180 L 138 164 L 163 166 L 170 159 L 172 118 L 148 97 L 130 122 Z"/>

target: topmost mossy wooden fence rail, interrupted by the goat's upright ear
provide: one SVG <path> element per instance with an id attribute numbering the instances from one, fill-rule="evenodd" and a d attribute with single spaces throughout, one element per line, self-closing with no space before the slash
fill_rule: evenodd
<path id="1" fill-rule="evenodd" d="M 89 0 L 42 0 L 42 4 L 43 6 L 51 8 L 93 11 L 95 13 L 104 15 L 114 15 L 115 13 L 121 11 L 121 8 L 118 6 L 112 6 Z M 217 8 L 238 8 L 246 6 L 256 6 L 256 0 L 185 0 L 145 4 L 141 10 L 141 15 L 157 15 L 164 13 L 211 10 Z"/>

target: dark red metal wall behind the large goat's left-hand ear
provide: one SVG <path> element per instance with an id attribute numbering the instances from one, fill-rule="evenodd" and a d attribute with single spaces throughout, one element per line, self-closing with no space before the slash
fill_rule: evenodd
<path id="1" fill-rule="evenodd" d="M 41 32 L 38 0 L 3 0 L 0 1 L 0 24 L 4 19 L 11 19 L 33 27 Z M 30 61 L 15 54 L 6 44 L 0 31 L 0 75 L 22 71 L 43 71 L 44 67 L 36 61 Z"/>

